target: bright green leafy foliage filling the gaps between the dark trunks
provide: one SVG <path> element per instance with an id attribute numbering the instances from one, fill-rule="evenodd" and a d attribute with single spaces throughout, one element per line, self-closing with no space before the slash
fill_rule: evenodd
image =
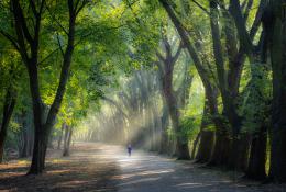
<path id="1" fill-rule="evenodd" d="M 25 18 L 29 18 L 29 31 L 32 32 L 34 21 L 30 20 L 33 15 L 29 1 L 22 0 L 20 3 L 24 9 Z M 182 22 L 185 33 L 188 34 L 189 41 L 198 53 L 202 68 L 206 70 L 206 79 L 215 89 L 219 88 L 221 84 L 218 81 L 218 67 L 213 56 L 210 18 L 206 13 L 209 11 L 209 1 L 199 1 L 200 7 L 188 0 L 168 0 L 168 3 L 170 3 L 175 15 Z M 228 8 L 229 1 L 224 3 Z M 250 30 L 255 20 L 258 4 L 258 0 L 253 1 L 245 20 L 246 30 Z M 41 99 L 48 109 L 57 90 L 69 26 L 66 1 L 46 0 L 45 5 L 40 34 L 41 48 L 37 67 Z M 243 7 L 243 11 L 245 9 Z M 223 78 L 226 83 L 229 83 L 230 79 L 227 78 L 233 76 L 230 74 L 231 61 L 238 59 L 237 56 L 234 58 L 230 56 L 240 52 L 241 43 L 233 18 L 223 16 L 223 13 L 227 13 L 224 11 L 227 10 L 220 5 L 219 35 L 224 59 Z M 13 39 L 16 39 L 15 30 L 11 27 L 14 18 L 10 11 L 9 0 L 0 2 L 0 18 L 1 32 L 6 32 Z M 258 44 L 263 30 L 262 26 L 258 27 L 253 39 L 255 45 Z M 231 35 L 238 50 L 235 48 L 231 52 L 228 49 L 230 47 L 227 44 L 226 30 L 228 29 L 233 31 Z M 2 114 L 7 90 L 10 88 L 15 90 L 18 104 L 15 115 L 9 126 L 8 145 L 16 146 L 18 136 L 22 131 L 16 118 L 31 110 L 32 104 L 25 66 L 22 64 L 15 47 L 4 37 L 7 36 L 1 33 L 0 112 Z M 62 128 L 63 123 L 76 127 L 77 134 L 88 135 L 90 131 L 100 133 L 105 129 L 110 131 L 113 136 L 116 135 L 113 133 L 117 133 L 118 127 L 120 127 L 122 135 L 127 137 L 138 133 L 144 137 L 150 136 L 150 133 L 145 132 L 154 128 L 152 127 L 154 125 L 160 126 L 164 113 L 164 99 L 160 92 L 162 79 L 157 76 L 158 69 L 154 67 L 157 61 L 156 53 L 166 54 L 166 50 L 162 48 L 163 37 L 168 38 L 173 52 L 180 43 L 176 29 L 157 0 L 89 1 L 77 18 L 72 71 L 53 136 L 61 133 L 59 128 Z M 24 44 L 26 47 L 30 46 L 28 42 Z M 204 104 L 206 104 L 206 90 L 193 66 L 191 57 L 185 48 L 183 53 L 174 68 L 173 89 L 174 92 L 178 93 L 180 87 L 184 87 L 185 76 L 194 77 L 191 87 L 183 88 L 186 92 L 188 89 L 190 90 L 186 95 L 187 105 L 178 106 L 180 114 L 180 132 L 178 134 L 188 140 L 194 139 L 199 133 Z M 29 50 L 28 55 L 30 54 Z M 239 99 L 234 103 L 239 116 L 243 120 L 242 133 L 255 134 L 261 126 L 270 125 L 273 89 L 271 76 L 271 69 L 266 69 L 264 64 L 250 64 L 248 59 L 244 61 L 238 93 Z M 227 91 L 230 91 L 230 88 L 227 88 Z M 179 98 L 177 94 L 175 97 Z M 107 98 L 110 99 L 109 104 L 107 104 L 108 101 L 101 100 Z M 208 129 L 215 131 L 211 121 L 217 117 L 226 124 L 227 132 L 231 132 L 223 110 L 226 108 L 222 103 L 222 95 L 218 93 L 218 116 L 207 116 L 207 121 L 210 122 Z M 121 124 L 123 125 L 121 126 Z M 178 136 L 175 134 L 172 123 L 167 127 L 167 133 L 170 140 L 175 140 Z"/>

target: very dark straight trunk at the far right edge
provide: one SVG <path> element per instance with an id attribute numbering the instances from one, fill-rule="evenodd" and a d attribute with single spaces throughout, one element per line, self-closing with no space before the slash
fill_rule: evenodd
<path id="1" fill-rule="evenodd" d="M 271 129 L 270 178 L 286 182 L 286 0 L 271 0 L 264 25 L 271 33 L 270 50 L 273 69 L 273 118 Z"/>

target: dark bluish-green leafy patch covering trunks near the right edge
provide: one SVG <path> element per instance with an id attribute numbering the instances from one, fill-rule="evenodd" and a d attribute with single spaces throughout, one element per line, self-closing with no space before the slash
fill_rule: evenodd
<path id="1" fill-rule="evenodd" d="M 251 64 L 251 76 L 244 88 L 240 113 L 244 116 L 243 132 L 256 133 L 271 122 L 272 78 L 263 64 Z"/>

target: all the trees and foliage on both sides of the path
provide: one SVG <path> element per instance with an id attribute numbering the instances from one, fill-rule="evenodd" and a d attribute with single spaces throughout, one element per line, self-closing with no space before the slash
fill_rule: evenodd
<path id="1" fill-rule="evenodd" d="M 66 138 L 132 142 L 286 181 L 285 0 L 7 0 L 1 8 L 0 140 L 13 109 L 26 111 L 30 173 L 43 171 L 48 139 L 61 143 L 61 127 L 69 127 Z M 99 99 L 109 108 L 99 111 Z M 80 121 L 87 113 L 89 127 Z"/>

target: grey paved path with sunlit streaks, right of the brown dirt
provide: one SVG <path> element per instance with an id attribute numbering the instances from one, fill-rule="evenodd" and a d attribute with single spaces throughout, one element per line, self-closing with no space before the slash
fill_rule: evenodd
<path id="1" fill-rule="evenodd" d="M 123 153 L 123 154 L 122 154 Z M 198 168 L 190 161 L 175 161 L 155 154 L 134 151 L 128 157 L 118 153 L 121 168 L 119 192 L 286 192 L 286 189 L 234 182 L 235 173 Z"/>

